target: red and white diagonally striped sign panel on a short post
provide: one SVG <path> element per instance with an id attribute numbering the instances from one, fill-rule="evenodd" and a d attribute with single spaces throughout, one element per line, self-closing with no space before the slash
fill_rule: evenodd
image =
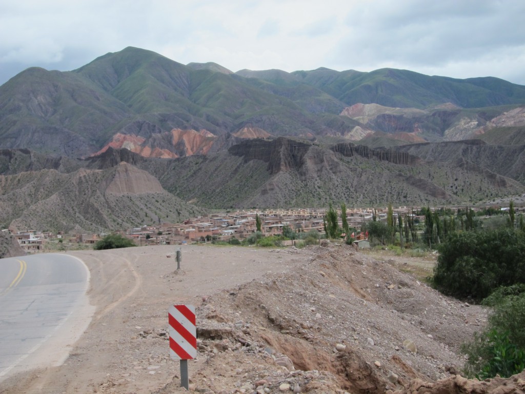
<path id="1" fill-rule="evenodd" d="M 192 360 L 197 357 L 197 329 L 193 305 L 173 305 L 168 312 L 170 323 L 170 357 Z"/>

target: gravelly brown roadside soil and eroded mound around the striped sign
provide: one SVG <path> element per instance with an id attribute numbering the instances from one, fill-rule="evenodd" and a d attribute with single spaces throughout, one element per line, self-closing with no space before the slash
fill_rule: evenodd
<path id="1" fill-rule="evenodd" d="M 91 324 L 62 366 L 14 376 L 0 393 L 184 392 L 169 358 L 172 304 L 197 308 L 190 390 L 221 394 L 434 381 L 460 369 L 459 344 L 486 319 L 400 271 L 406 260 L 348 245 L 181 249 L 180 271 L 173 246 L 68 252 L 91 272 Z"/>

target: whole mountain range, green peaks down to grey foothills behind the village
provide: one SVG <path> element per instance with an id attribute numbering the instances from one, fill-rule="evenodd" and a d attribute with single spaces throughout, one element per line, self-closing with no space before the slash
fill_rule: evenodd
<path id="1" fill-rule="evenodd" d="M 525 87 L 416 72 L 232 72 L 125 48 L 0 86 L 0 226 L 525 193 Z"/>

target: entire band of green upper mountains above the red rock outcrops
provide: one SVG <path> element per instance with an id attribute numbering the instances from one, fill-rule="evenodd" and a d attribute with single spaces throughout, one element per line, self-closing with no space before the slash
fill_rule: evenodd
<path id="1" fill-rule="evenodd" d="M 274 137 L 358 140 L 369 132 L 388 131 L 390 120 L 364 127 L 341 116 L 346 106 L 426 108 L 447 102 L 471 108 L 471 118 L 482 119 L 490 110 L 481 107 L 523 105 L 525 87 L 497 78 L 459 80 L 395 69 L 232 74 L 216 64 L 185 66 L 128 47 L 74 71 L 30 68 L 0 86 L 0 148 L 87 157 L 116 141 L 121 148 L 129 143 L 122 136 L 131 136 L 142 144 L 135 148 L 143 154 L 161 151 L 177 157 L 195 151 L 187 145 L 191 141 L 170 140 L 174 129 L 216 136 L 210 152 L 227 149 L 230 134 L 245 128 Z M 425 139 L 448 138 L 440 121 L 439 116 L 418 120 L 428 126 Z M 399 121 L 401 131 L 411 132 L 409 123 Z"/>

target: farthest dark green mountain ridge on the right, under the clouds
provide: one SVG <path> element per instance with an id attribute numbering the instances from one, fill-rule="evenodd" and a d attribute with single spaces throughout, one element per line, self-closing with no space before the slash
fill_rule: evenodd
<path id="1" fill-rule="evenodd" d="M 453 79 L 408 70 L 371 72 L 320 68 L 292 73 L 346 105 L 376 103 L 386 107 L 424 108 L 450 102 L 463 108 L 525 103 L 525 87 L 497 78 Z"/>

